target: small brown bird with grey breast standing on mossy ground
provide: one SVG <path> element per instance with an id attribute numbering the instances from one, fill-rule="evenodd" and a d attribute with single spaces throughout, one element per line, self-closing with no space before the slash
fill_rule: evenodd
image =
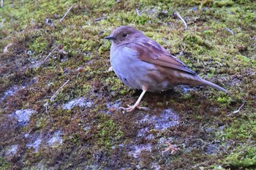
<path id="1" fill-rule="evenodd" d="M 208 85 L 227 93 L 227 90 L 212 82 L 197 77 L 197 74 L 157 42 L 130 26 L 116 28 L 110 36 L 110 63 L 117 77 L 130 88 L 143 92 L 133 106 L 121 109 L 131 112 L 139 107 L 146 91 L 159 91 L 173 88 L 174 85 Z"/>

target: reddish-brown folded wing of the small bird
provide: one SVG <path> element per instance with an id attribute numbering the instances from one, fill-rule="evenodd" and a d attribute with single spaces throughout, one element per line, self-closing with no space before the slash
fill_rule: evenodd
<path id="1" fill-rule="evenodd" d="M 191 69 L 188 69 L 184 63 L 168 53 L 164 47 L 151 39 L 144 39 L 140 42 L 132 42 L 129 43 L 127 47 L 138 52 L 138 57 L 142 61 L 196 75 L 196 73 Z"/>

